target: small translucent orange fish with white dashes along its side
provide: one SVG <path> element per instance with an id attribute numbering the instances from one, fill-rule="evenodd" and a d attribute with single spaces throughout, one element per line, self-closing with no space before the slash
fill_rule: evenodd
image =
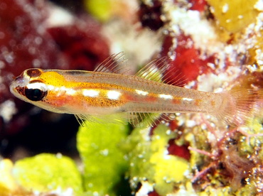
<path id="1" fill-rule="evenodd" d="M 167 58 L 150 62 L 136 75 L 125 75 L 117 65 L 112 67 L 122 56 L 110 56 L 94 72 L 28 69 L 10 89 L 19 99 L 48 111 L 87 120 L 106 116 L 106 121 L 114 114 L 127 114 L 132 124 L 151 113 L 205 113 L 239 125 L 262 100 L 262 89 L 213 93 L 156 82 L 160 75 L 166 77 Z"/>

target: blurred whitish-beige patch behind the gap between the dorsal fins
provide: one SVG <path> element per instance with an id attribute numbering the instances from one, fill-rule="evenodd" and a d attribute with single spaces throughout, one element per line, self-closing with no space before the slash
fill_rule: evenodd
<path id="1" fill-rule="evenodd" d="M 112 53 L 124 51 L 129 65 L 144 64 L 161 48 L 160 34 L 149 29 L 141 29 L 138 33 L 137 27 L 118 20 L 103 26 L 104 35 L 111 41 Z M 129 68 L 136 70 L 136 67 Z"/>

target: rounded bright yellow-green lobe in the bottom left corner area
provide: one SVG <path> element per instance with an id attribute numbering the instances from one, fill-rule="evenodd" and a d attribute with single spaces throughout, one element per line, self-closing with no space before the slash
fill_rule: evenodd
<path id="1" fill-rule="evenodd" d="M 43 153 L 18 160 L 13 169 L 18 184 L 27 190 L 48 192 L 50 190 L 82 193 L 82 179 L 74 161 L 68 157 Z"/>

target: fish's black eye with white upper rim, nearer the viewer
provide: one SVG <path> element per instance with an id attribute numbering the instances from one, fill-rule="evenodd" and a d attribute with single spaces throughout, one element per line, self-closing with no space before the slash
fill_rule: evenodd
<path id="1" fill-rule="evenodd" d="M 48 94 L 48 91 L 42 82 L 34 82 L 25 87 L 24 94 L 29 100 L 38 102 Z"/>

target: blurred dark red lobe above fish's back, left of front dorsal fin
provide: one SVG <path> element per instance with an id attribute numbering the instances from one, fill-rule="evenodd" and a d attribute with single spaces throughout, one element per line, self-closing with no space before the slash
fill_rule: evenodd
<path id="1" fill-rule="evenodd" d="M 92 71 L 109 56 L 109 45 L 100 33 L 100 26 L 91 18 L 86 18 L 85 24 L 80 23 L 76 21 L 73 25 L 55 26 L 47 31 L 67 58 L 71 69 Z"/>

